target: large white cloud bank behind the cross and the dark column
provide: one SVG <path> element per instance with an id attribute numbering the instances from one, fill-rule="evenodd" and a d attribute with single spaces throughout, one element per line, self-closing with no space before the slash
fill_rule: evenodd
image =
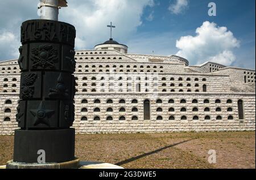
<path id="1" fill-rule="evenodd" d="M 0 1 L 0 16 L 5 16 L 0 18 L 0 60 L 18 58 L 20 25 L 27 19 L 38 19 L 38 2 Z M 129 40 L 142 24 L 144 8 L 154 6 L 154 0 L 72 0 L 68 7 L 61 8 L 59 20 L 75 25 L 76 49 L 91 49 L 108 40 L 110 29 L 106 25 L 110 21 L 117 27 L 113 30 L 114 39 L 120 43 Z"/>

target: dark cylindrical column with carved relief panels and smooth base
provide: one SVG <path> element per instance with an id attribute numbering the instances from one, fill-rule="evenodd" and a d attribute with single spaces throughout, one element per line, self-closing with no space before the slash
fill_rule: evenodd
<path id="1" fill-rule="evenodd" d="M 75 37 L 71 24 L 53 20 L 22 23 L 18 59 L 20 101 L 15 130 L 14 162 L 46 163 L 75 159 Z"/>

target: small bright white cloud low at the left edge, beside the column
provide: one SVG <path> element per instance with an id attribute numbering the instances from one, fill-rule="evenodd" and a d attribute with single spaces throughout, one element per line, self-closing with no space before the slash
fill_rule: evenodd
<path id="1" fill-rule="evenodd" d="M 15 59 L 19 57 L 19 38 L 14 33 L 0 31 L 0 59 L 9 57 Z"/>

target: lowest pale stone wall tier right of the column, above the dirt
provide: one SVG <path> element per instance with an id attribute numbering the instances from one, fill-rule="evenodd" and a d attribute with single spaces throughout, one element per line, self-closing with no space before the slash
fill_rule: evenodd
<path id="1" fill-rule="evenodd" d="M 254 131 L 255 130 L 255 95 L 254 94 L 163 94 L 158 98 L 151 100 L 151 120 L 144 121 L 143 118 L 143 101 L 150 98 L 146 94 L 138 95 L 77 95 L 76 96 L 76 127 L 77 133 L 120 133 L 120 132 L 176 132 L 176 131 Z M 198 103 L 192 103 L 193 99 Z M 95 100 L 100 100 L 100 104 L 94 103 Z M 125 103 L 120 104 L 123 99 Z M 138 100 L 138 103 L 133 104 L 133 99 Z M 157 100 L 162 100 L 162 103 L 156 103 Z M 169 100 L 174 100 L 174 103 L 168 103 Z M 187 102 L 181 104 L 180 100 L 184 99 Z M 221 103 L 215 103 L 216 100 Z M 232 100 L 229 104 L 227 100 Z M 82 104 L 82 100 L 86 100 Z M 106 103 L 107 100 L 113 100 L 113 104 Z M 204 100 L 209 100 L 204 103 Z M 243 100 L 243 109 L 245 119 L 238 118 L 237 101 Z M 221 108 L 221 112 L 216 112 L 216 108 Z M 86 108 L 87 112 L 83 108 Z M 96 108 L 100 112 L 94 112 Z M 108 108 L 112 108 L 113 112 L 106 112 Z M 121 108 L 125 112 L 119 112 Z M 138 112 L 133 112 L 133 108 L 137 108 Z M 162 108 L 162 112 L 157 112 L 158 108 Z M 174 112 L 169 112 L 170 108 L 174 108 Z M 186 108 L 187 112 L 180 112 L 181 108 Z M 193 112 L 193 108 L 198 108 L 198 112 Z M 205 108 L 209 108 L 209 112 L 204 112 Z M 228 108 L 232 111 L 228 112 Z M 199 120 L 193 120 L 197 115 Z M 138 117 L 137 121 L 133 121 L 133 117 Z M 169 120 L 171 116 L 175 120 Z M 187 120 L 181 120 L 181 117 L 186 116 Z M 210 119 L 205 119 L 209 116 Z M 222 119 L 217 120 L 217 116 Z M 86 117 L 86 118 L 85 118 Z M 112 117 L 112 121 L 106 120 Z M 125 120 L 119 118 L 125 117 Z M 157 120 L 162 117 L 163 120 Z M 230 119 L 233 117 L 233 119 Z M 96 120 L 98 121 L 94 121 Z M 99 119 L 97 119 L 99 118 Z M 85 121 L 82 121 L 84 119 Z"/>

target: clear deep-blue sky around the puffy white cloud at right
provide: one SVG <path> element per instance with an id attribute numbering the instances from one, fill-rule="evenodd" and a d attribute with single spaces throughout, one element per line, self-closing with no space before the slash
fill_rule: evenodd
<path id="1" fill-rule="evenodd" d="M 180 14 L 168 11 L 170 2 L 158 1 L 159 6 L 147 7 L 143 14 L 143 25 L 138 27 L 138 33 L 147 32 L 151 35 L 171 32 L 170 53 L 176 53 L 176 40 L 180 36 L 196 36 L 195 29 L 205 21 L 214 22 L 218 26 L 228 28 L 240 41 L 240 48 L 234 50 L 237 61 L 230 66 L 240 66 L 255 69 L 255 0 L 190 0 L 188 7 Z M 217 5 L 217 16 L 208 16 L 208 3 Z M 147 16 L 154 11 L 154 19 L 147 21 Z M 157 53 L 157 52 L 156 52 Z M 166 54 L 167 55 L 167 54 Z"/>

